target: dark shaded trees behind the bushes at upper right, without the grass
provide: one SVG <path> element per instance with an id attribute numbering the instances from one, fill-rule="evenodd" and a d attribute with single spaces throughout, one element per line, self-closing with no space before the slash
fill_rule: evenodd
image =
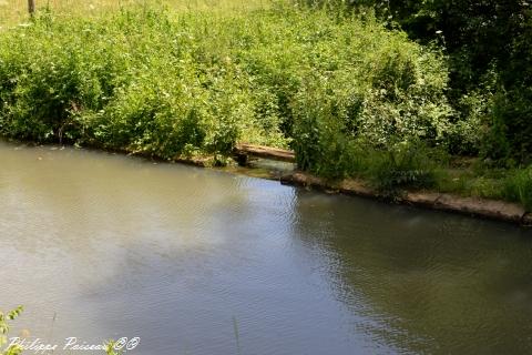
<path id="1" fill-rule="evenodd" d="M 304 0 L 329 10 L 374 9 L 448 55 L 454 120 L 480 120 L 483 136 L 453 153 L 513 166 L 532 161 L 532 2 L 529 0 Z M 468 142 L 471 143 L 471 142 Z"/>

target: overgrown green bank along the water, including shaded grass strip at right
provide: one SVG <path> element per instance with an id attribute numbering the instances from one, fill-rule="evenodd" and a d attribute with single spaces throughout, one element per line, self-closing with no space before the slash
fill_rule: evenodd
<path id="1" fill-rule="evenodd" d="M 532 209 L 531 169 L 450 155 L 484 126 L 447 101 L 440 52 L 370 13 L 176 3 L 13 17 L 0 32 L 0 134 L 221 163 L 238 142 L 293 148 L 320 176 Z"/>

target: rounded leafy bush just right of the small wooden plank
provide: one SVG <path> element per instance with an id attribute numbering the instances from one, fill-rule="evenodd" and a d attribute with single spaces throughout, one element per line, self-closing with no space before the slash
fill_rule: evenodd
<path id="1" fill-rule="evenodd" d="M 359 51 L 345 59 L 352 62 L 305 77 L 293 99 L 293 146 L 301 169 L 352 175 L 368 149 L 393 151 L 418 141 L 447 148 L 459 135 L 450 124 L 447 70 L 437 53 L 379 26 L 369 36 L 364 29 L 342 32 Z M 374 51 L 364 50 L 369 43 Z"/>

